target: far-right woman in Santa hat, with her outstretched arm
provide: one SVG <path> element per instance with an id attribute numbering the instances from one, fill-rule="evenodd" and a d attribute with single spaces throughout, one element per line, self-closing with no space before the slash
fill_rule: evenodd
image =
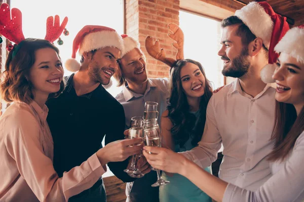
<path id="1" fill-rule="evenodd" d="M 275 145 L 268 158 L 273 176 L 262 186 L 250 191 L 227 183 L 166 148 L 145 146 L 152 153 L 143 153 L 148 163 L 185 176 L 216 201 L 303 201 L 304 26 L 290 29 L 275 51 L 280 56 L 271 82 L 276 82 L 275 97 L 280 103 L 272 136 Z"/>

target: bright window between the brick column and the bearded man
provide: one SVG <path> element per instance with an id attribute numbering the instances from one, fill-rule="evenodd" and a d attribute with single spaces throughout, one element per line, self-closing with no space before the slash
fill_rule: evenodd
<path id="1" fill-rule="evenodd" d="M 179 26 L 184 32 L 184 57 L 202 64 L 214 89 L 222 86 L 223 62 L 217 55 L 220 49 L 220 22 L 180 11 Z"/>

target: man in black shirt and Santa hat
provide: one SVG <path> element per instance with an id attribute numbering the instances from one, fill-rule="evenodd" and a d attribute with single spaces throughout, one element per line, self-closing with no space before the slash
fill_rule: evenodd
<path id="1" fill-rule="evenodd" d="M 108 27 L 85 26 L 73 41 L 72 58 L 78 48 L 81 64 L 75 59 L 65 64 L 68 70 L 78 72 L 65 77 L 63 93 L 47 102 L 54 168 L 59 177 L 102 147 L 104 136 L 105 144 L 124 139 L 124 109 L 101 85 L 108 84 L 118 69 L 123 48 L 121 36 Z M 113 174 L 130 182 L 134 179 L 123 172 L 127 166 L 128 160 L 108 163 Z M 69 201 L 106 201 L 102 179 Z"/>

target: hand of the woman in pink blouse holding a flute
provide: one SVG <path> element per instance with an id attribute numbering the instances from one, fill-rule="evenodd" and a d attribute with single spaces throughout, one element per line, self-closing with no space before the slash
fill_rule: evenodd
<path id="1" fill-rule="evenodd" d="M 117 140 L 99 149 L 96 155 L 101 165 L 105 165 L 108 162 L 125 161 L 129 156 L 140 154 L 142 146 L 142 138 Z"/>

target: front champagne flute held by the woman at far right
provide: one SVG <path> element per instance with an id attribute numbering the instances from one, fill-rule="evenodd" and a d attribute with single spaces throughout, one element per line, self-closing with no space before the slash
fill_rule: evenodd
<path id="1" fill-rule="evenodd" d="M 144 129 L 144 143 L 147 146 L 161 147 L 161 138 L 156 127 Z M 151 185 L 152 187 L 162 186 L 170 183 L 170 181 L 166 181 L 162 178 L 161 171 L 159 169 L 156 169 L 156 172 L 157 181 Z"/>

